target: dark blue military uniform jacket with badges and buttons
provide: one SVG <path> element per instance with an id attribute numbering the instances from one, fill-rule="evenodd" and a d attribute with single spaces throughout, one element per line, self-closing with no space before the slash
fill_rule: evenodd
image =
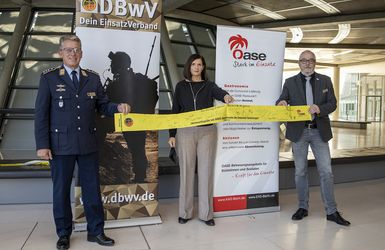
<path id="1" fill-rule="evenodd" d="M 112 116 L 117 104 L 103 91 L 99 75 L 80 69 L 76 89 L 63 66 L 46 70 L 40 77 L 35 103 L 36 148 L 56 155 L 97 151 L 96 113 Z"/>

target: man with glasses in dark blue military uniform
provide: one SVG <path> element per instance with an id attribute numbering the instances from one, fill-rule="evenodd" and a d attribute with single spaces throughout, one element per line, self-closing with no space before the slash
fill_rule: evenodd
<path id="1" fill-rule="evenodd" d="M 104 234 L 96 140 L 96 111 L 112 116 L 128 113 L 126 103 L 115 104 L 104 94 L 99 76 L 79 67 L 81 41 L 77 36 L 60 38 L 63 65 L 46 70 L 40 78 L 35 104 L 37 156 L 49 160 L 53 180 L 53 214 L 58 249 L 70 247 L 72 212 L 70 189 L 75 162 L 79 167 L 87 240 L 112 246 Z"/>

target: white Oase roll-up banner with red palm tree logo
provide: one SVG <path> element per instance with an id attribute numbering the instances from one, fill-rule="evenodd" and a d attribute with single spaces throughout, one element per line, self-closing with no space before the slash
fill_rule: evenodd
<path id="1" fill-rule="evenodd" d="M 275 105 L 286 34 L 218 26 L 216 83 L 239 105 Z M 215 216 L 278 211 L 277 122 L 218 124 Z"/>

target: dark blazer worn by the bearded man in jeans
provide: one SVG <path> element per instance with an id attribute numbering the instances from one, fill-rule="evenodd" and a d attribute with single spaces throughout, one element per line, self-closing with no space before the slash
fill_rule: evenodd
<path id="1" fill-rule="evenodd" d="M 337 108 L 337 100 L 334 95 L 333 84 L 330 77 L 315 73 L 313 93 L 314 104 L 316 104 L 321 111 L 321 113 L 315 117 L 315 122 L 317 123 L 317 128 L 322 140 L 327 142 L 333 137 L 329 114 Z M 286 79 L 281 96 L 276 103 L 281 100 L 285 100 L 288 105 L 291 106 L 307 105 L 301 73 Z M 288 122 L 286 138 L 293 142 L 298 141 L 304 128 L 304 121 Z"/>

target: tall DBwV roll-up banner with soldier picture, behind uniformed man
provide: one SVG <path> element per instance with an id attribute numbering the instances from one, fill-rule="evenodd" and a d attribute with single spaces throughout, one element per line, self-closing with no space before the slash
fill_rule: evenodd
<path id="1" fill-rule="evenodd" d="M 161 7 L 161 0 L 76 0 L 81 67 L 96 71 L 109 99 L 135 113 L 157 110 Z M 96 133 L 106 227 L 160 223 L 157 132 L 114 133 L 114 118 L 100 114 Z M 75 222 L 82 230 L 80 186 Z"/>

